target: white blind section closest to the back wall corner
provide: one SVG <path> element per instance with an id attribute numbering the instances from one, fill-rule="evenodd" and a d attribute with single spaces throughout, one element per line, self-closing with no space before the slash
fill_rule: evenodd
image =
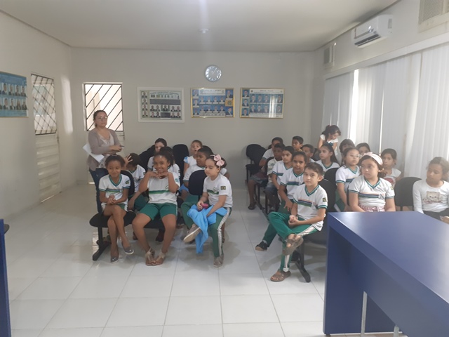
<path id="1" fill-rule="evenodd" d="M 328 125 L 337 125 L 342 131 L 340 141 L 348 138 L 351 118 L 352 86 L 354 72 L 348 72 L 331 79 L 324 84 L 324 109 L 322 130 Z"/>

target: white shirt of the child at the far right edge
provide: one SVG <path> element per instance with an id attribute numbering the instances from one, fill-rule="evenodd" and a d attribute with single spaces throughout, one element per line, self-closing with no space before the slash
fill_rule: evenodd
<path id="1" fill-rule="evenodd" d="M 444 181 L 441 187 L 431 187 L 425 179 L 418 180 L 413 184 L 413 208 L 420 213 L 439 213 L 448 209 L 449 183 Z"/>

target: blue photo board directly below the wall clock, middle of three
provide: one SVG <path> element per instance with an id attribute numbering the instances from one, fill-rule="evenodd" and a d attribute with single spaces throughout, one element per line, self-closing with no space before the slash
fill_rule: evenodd
<path id="1" fill-rule="evenodd" d="M 192 88 L 192 118 L 234 117 L 234 88 Z"/>

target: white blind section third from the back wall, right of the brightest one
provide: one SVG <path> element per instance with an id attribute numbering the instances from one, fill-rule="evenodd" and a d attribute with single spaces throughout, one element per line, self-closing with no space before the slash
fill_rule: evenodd
<path id="1" fill-rule="evenodd" d="M 380 150 L 398 153 L 396 167 L 403 171 L 407 134 L 415 128 L 421 54 L 388 61 L 385 67 Z"/>

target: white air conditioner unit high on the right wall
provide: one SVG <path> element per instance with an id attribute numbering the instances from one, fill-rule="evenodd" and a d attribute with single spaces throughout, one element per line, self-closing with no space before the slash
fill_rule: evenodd
<path id="1" fill-rule="evenodd" d="M 365 47 L 391 35 L 392 15 L 379 15 L 352 29 L 352 41 L 358 47 Z"/>

